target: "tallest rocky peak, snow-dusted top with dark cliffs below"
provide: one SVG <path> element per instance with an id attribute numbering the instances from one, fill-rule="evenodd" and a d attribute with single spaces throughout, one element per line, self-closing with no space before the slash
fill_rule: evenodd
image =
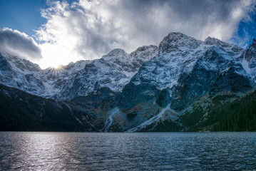
<path id="1" fill-rule="evenodd" d="M 182 33 L 169 33 L 158 51 L 158 56 L 143 63 L 123 89 L 122 108 L 158 98 L 160 91 L 167 90 L 163 104 L 176 99 L 171 107 L 175 105 L 175 110 L 180 110 L 213 88 L 217 93 L 247 91 L 253 86 L 241 63 L 245 50 L 237 46 L 210 37 L 198 41 Z"/>

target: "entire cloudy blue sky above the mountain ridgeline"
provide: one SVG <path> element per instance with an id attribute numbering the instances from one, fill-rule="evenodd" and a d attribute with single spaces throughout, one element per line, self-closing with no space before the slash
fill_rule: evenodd
<path id="1" fill-rule="evenodd" d="M 0 51 L 41 68 L 158 45 L 170 32 L 247 48 L 256 0 L 0 0 Z"/>

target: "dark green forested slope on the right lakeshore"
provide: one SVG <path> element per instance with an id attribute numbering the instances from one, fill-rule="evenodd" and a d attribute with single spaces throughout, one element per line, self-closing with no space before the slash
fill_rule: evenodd
<path id="1" fill-rule="evenodd" d="M 242 97 L 217 95 L 205 110 L 202 102 L 195 103 L 179 122 L 185 131 L 256 131 L 256 91 Z"/>

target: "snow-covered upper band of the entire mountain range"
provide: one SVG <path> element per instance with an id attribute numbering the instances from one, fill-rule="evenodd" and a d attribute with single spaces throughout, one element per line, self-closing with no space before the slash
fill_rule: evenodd
<path id="1" fill-rule="evenodd" d="M 255 41 L 254 41 L 255 42 Z M 132 83 L 147 83 L 158 90 L 181 84 L 195 67 L 236 73 L 255 80 L 255 43 L 245 50 L 216 38 L 198 41 L 183 33 L 169 33 L 159 46 L 143 46 L 128 54 L 114 49 L 94 61 L 78 61 L 60 69 L 38 65 L 8 54 L 1 55 L 1 83 L 56 100 L 70 100 L 108 87 L 115 92 Z"/>

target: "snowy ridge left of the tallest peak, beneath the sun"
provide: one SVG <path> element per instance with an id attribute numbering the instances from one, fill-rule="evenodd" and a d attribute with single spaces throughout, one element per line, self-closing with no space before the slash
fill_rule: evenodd
<path id="1" fill-rule="evenodd" d="M 56 100 L 88 95 L 102 87 L 121 91 L 142 63 L 158 53 L 157 48 L 143 46 L 130 54 L 114 49 L 101 59 L 78 61 L 46 70 L 16 56 L 1 55 L 0 83 Z"/>

